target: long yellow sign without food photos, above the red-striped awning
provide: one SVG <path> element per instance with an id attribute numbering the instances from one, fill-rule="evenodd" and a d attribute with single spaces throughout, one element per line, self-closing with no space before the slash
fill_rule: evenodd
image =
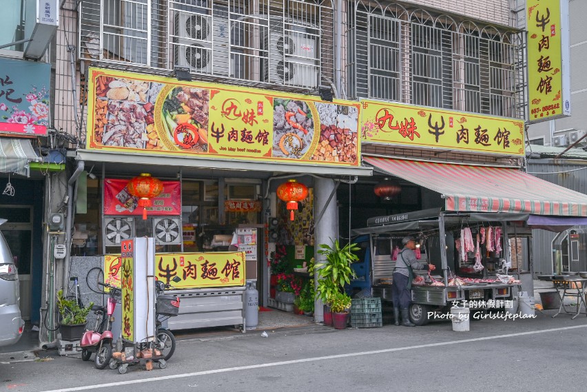
<path id="1" fill-rule="evenodd" d="M 524 121 L 382 101 L 361 101 L 361 137 L 363 143 L 524 154 Z"/>

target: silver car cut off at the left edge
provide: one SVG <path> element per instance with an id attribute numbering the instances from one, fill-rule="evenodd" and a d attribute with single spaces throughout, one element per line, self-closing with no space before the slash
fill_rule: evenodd
<path id="1" fill-rule="evenodd" d="M 3 223 L 6 219 L 0 219 L 0 225 Z M 24 321 L 19 300 L 19 273 L 0 232 L 0 346 L 14 344 L 23 335 Z"/>

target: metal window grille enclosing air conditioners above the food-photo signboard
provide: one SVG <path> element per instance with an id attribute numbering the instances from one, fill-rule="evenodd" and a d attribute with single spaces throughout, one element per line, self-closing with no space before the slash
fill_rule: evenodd
<path id="1" fill-rule="evenodd" d="M 331 0 L 83 0 L 79 56 L 159 74 L 308 90 L 334 76 Z"/>

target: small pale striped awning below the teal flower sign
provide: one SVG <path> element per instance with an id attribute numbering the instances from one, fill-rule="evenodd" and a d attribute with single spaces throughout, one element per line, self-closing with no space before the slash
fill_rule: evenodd
<path id="1" fill-rule="evenodd" d="M 29 176 L 30 161 L 40 161 L 29 139 L 0 137 L 0 172 Z"/>

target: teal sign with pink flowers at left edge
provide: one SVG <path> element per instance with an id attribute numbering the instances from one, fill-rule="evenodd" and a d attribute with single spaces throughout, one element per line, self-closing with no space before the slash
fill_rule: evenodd
<path id="1" fill-rule="evenodd" d="M 0 59 L 0 134 L 47 134 L 50 72 L 48 63 Z"/>

